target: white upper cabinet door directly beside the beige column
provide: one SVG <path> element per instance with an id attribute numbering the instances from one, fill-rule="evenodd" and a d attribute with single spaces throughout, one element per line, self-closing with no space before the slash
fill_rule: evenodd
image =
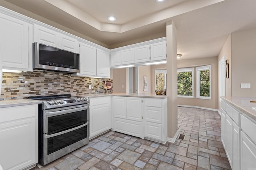
<path id="1" fill-rule="evenodd" d="M 166 41 L 150 45 L 151 61 L 166 59 Z"/>

